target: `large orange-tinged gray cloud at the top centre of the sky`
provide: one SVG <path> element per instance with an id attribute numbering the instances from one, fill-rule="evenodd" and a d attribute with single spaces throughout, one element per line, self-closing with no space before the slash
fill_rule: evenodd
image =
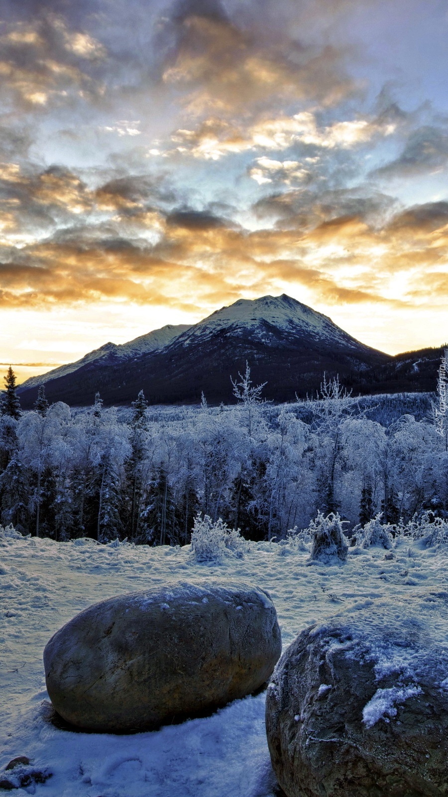
<path id="1" fill-rule="evenodd" d="M 261 33 L 256 5 L 248 11 L 238 21 L 218 2 L 172 8 L 160 34 L 163 82 L 183 91 L 186 112 L 229 120 L 237 110 L 257 115 L 273 100 L 331 106 L 356 90 L 338 49 L 316 48 L 285 29 L 281 37 L 272 27 Z"/>

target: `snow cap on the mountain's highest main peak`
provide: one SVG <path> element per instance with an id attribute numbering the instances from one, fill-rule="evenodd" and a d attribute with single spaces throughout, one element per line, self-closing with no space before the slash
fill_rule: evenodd
<path id="1" fill-rule="evenodd" d="M 268 325 L 288 336 L 324 340 L 329 344 L 343 344 L 353 349 L 367 348 L 333 324 L 328 316 L 323 316 L 285 293 L 281 296 L 261 296 L 254 300 L 239 299 L 199 321 L 179 336 L 176 343 L 188 347 L 197 343 L 198 339 L 205 340 L 226 328 L 234 332 L 255 333 L 261 341 L 269 343 Z"/>

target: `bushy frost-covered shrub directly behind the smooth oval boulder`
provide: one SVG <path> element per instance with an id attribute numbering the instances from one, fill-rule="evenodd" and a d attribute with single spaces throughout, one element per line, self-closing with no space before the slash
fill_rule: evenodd
<path id="1" fill-rule="evenodd" d="M 246 540 L 236 529 L 226 526 L 221 517 L 215 522 L 208 515 L 195 517 L 191 553 L 196 562 L 222 562 L 226 550 L 242 556 L 246 549 Z"/>

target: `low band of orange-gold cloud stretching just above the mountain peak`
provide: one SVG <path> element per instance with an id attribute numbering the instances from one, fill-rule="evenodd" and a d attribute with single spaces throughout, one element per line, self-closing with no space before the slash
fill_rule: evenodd
<path id="1" fill-rule="evenodd" d="M 321 206 L 310 215 L 323 213 Z M 231 300 L 248 289 L 276 292 L 301 285 L 326 304 L 408 306 L 415 269 L 426 274 L 420 299 L 430 286 L 437 286 L 439 297 L 448 289 L 446 275 L 437 271 L 448 242 L 434 241 L 434 225 L 419 221 L 427 215 L 415 210 L 417 242 L 411 218 L 403 214 L 376 230 L 361 215 L 345 215 L 308 230 L 248 232 L 206 211 L 179 209 L 167 215 L 154 244 L 86 227 L 73 231 L 72 238 L 58 234 L 53 241 L 22 247 L 20 259 L 4 262 L 1 301 L 38 307 L 112 300 L 185 308 L 204 304 L 211 295 Z M 394 296 L 397 273 L 405 275 L 403 285 L 406 275 L 413 279 Z"/>

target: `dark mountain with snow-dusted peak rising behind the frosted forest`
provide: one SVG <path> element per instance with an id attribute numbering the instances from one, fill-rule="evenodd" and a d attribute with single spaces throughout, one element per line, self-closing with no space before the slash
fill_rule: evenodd
<path id="1" fill-rule="evenodd" d="M 383 354 L 285 295 L 238 300 L 155 351 L 129 351 L 125 358 L 86 355 L 69 373 L 45 375 L 47 398 L 88 405 L 99 391 L 106 404 L 120 404 L 143 389 L 151 403 L 199 402 L 202 391 L 211 403 L 232 402 L 230 376 L 237 378 L 246 361 L 253 383 L 267 382 L 263 395 L 278 402 L 316 395 L 324 373 L 339 374 L 354 395 L 434 390 L 440 359 L 438 351 L 426 359 Z M 35 383 L 24 383 L 19 392 L 22 406 L 32 406 Z"/>

